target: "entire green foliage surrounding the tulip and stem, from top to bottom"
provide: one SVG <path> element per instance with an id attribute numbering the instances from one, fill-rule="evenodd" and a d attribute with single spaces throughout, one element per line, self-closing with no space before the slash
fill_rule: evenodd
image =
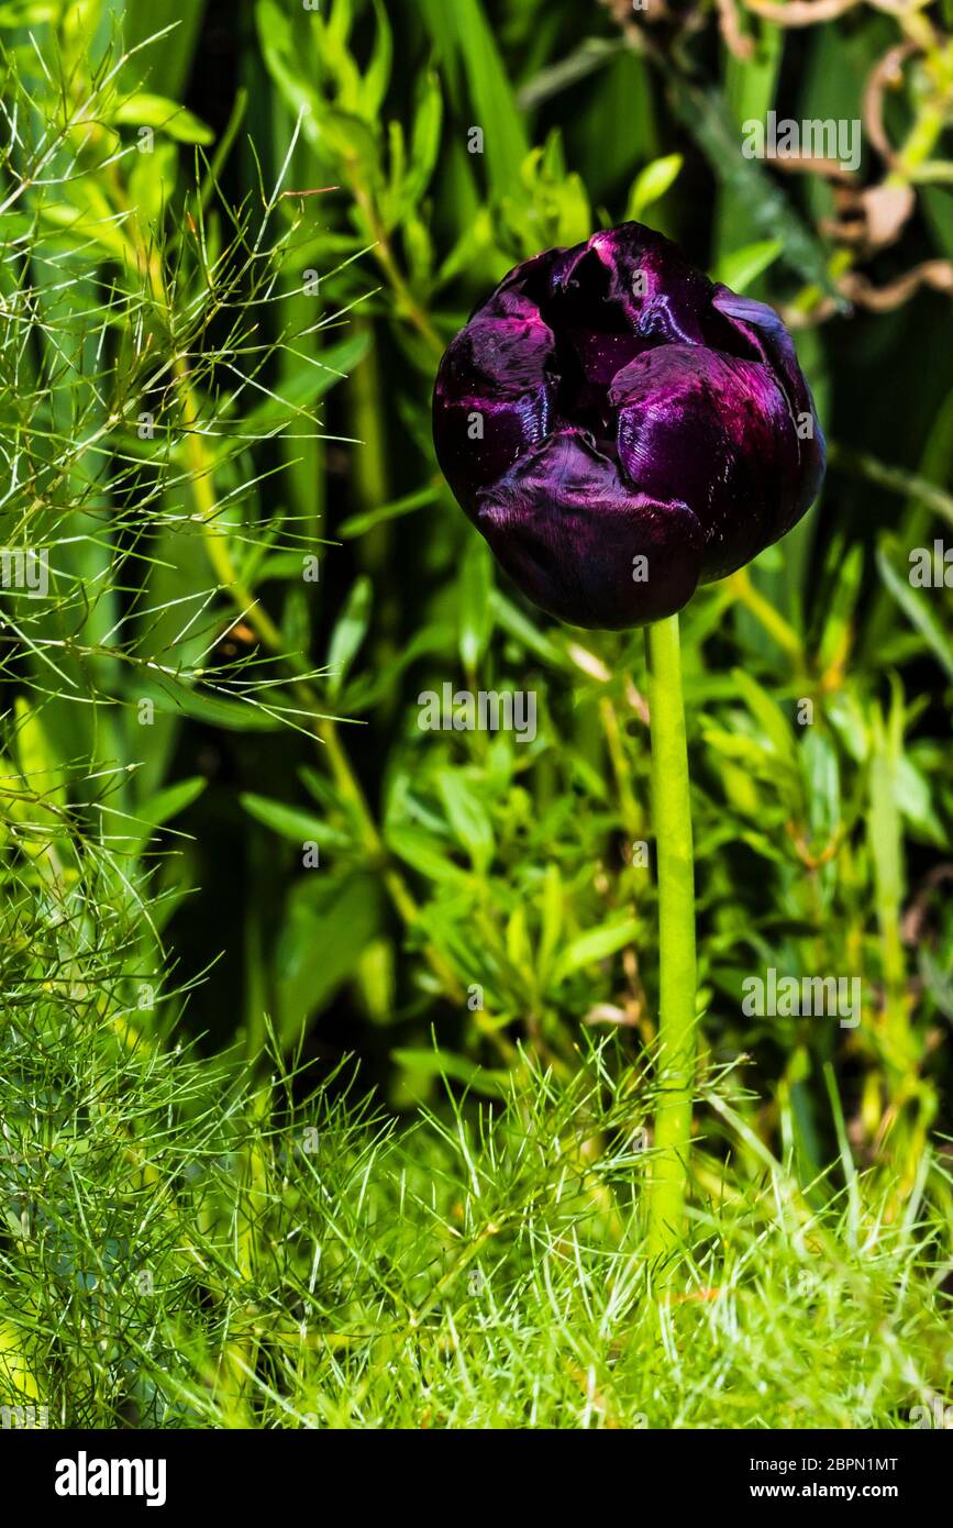
<path id="1" fill-rule="evenodd" d="M 857 6 L 803 72 L 730 6 L 718 61 L 712 8 L 177 9 L 0 6 L 11 1403 L 907 1426 L 950 1363 L 950 590 L 909 578 L 951 503 L 942 38 Z M 867 248 L 739 127 L 860 115 L 901 35 L 854 189 L 924 217 Z M 783 310 L 834 435 L 684 623 L 709 1050 L 664 1306 L 641 639 L 499 587 L 429 431 L 473 301 L 626 214 Z M 426 730 L 444 686 L 533 735 Z M 855 975 L 860 1022 L 745 1013 L 770 969 Z"/>

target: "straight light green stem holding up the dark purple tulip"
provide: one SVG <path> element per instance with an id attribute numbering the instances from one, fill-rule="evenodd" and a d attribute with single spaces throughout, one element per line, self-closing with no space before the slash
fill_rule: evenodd
<path id="1" fill-rule="evenodd" d="M 658 1082 L 648 1196 L 651 1262 L 670 1259 L 683 1233 L 695 1073 L 695 862 L 689 753 L 681 698 L 678 616 L 648 631 L 652 817 L 658 856 Z"/>

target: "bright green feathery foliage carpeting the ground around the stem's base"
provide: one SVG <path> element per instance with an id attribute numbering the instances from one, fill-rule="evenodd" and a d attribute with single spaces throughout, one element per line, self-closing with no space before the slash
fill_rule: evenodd
<path id="1" fill-rule="evenodd" d="M 660 1299 L 651 1100 L 611 1045 L 565 1086 L 527 1065 L 509 1100 L 405 1129 L 342 1071 L 309 1094 L 137 1041 L 92 924 L 53 998 L 63 938 L 3 946 L 0 1403 L 79 1427 L 812 1429 L 942 1397 L 927 1161 L 901 1213 L 852 1175 L 812 1209 L 721 1079 L 699 1118 L 739 1155 L 699 1155 Z"/>

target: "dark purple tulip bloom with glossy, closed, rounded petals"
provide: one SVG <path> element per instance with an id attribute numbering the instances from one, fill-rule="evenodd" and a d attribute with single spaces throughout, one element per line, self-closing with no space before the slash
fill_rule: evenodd
<path id="1" fill-rule="evenodd" d="M 640 223 L 504 277 L 440 362 L 434 440 L 519 588 L 611 630 L 744 567 L 825 474 L 779 316 Z"/>

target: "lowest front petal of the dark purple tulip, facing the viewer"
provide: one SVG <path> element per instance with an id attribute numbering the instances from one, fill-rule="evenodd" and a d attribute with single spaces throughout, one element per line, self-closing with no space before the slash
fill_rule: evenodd
<path id="1" fill-rule="evenodd" d="M 481 494 L 476 524 L 519 588 L 576 626 L 648 625 L 698 584 L 704 533 L 692 510 L 632 494 L 579 429 L 550 435 Z"/>

